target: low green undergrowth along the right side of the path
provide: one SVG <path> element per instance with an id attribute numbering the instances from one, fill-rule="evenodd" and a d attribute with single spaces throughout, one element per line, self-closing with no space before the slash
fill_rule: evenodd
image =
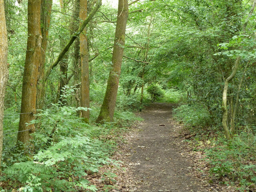
<path id="1" fill-rule="evenodd" d="M 182 104 L 174 109 L 173 116 L 190 132 L 196 133 L 194 139 L 185 142 L 195 150 L 204 151 L 211 180 L 235 186 L 241 192 L 256 190 L 256 136 L 253 126 L 241 127 L 227 142 L 221 124 L 214 124 L 202 104 Z"/>

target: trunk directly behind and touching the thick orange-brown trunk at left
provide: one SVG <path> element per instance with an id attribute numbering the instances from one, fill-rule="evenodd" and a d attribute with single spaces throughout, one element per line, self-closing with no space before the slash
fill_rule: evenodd
<path id="1" fill-rule="evenodd" d="M 40 52 L 40 63 L 38 68 L 38 84 L 36 89 L 36 109 L 42 109 L 44 106 L 44 62 L 50 26 L 50 16 L 52 10 L 52 0 L 42 0 L 41 3 L 41 33 L 42 33 L 42 50 Z"/>

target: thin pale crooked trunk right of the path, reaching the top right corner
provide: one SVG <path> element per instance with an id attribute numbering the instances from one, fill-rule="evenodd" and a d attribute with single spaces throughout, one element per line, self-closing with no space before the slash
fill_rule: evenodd
<path id="1" fill-rule="evenodd" d="M 249 18 L 252 15 L 252 12 L 253 12 L 255 6 L 256 6 L 256 0 L 254 0 L 254 2 L 252 4 L 252 8 L 249 12 L 248 18 L 244 22 L 243 34 L 246 34 L 246 26 L 249 22 Z M 222 110 L 223 110 L 222 126 L 223 126 L 223 129 L 224 129 L 227 140 L 230 140 L 230 138 L 231 138 L 230 131 L 228 129 L 228 123 L 227 123 L 228 122 L 228 109 L 227 109 L 228 84 L 229 84 L 230 80 L 232 80 L 234 78 L 234 76 L 236 75 L 240 60 L 241 60 L 240 56 L 238 58 L 236 58 L 236 62 L 234 64 L 232 74 L 228 78 L 226 78 L 223 93 L 222 93 Z"/>

